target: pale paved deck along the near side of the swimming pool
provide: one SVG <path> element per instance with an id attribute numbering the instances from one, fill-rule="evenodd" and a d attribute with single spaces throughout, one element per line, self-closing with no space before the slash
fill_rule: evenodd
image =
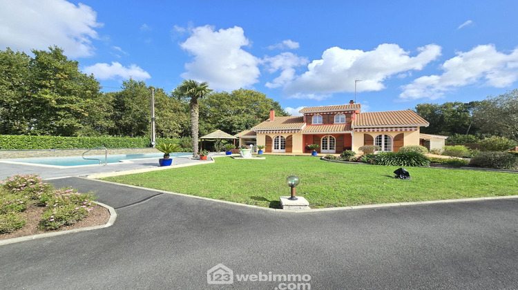
<path id="1" fill-rule="evenodd" d="M 215 154 L 217 156 L 220 154 Z M 224 153 L 223 153 L 224 155 Z M 213 155 L 211 155 L 213 156 Z M 191 156 L 171 157 L 173 165 L 188 166 L 191 164 L 202 164 L 207 161 L 191 160 Z M 168 166 L 169 167 L 169 166 Z M 15 174 L 31 174 L 36 173 L 45 180 L 71 177 L 71 176 L 88 176 L 99 173 L 111 173 L 120 171 L 139 171 L 143 169 L 158 169 L 158 158 L 132 160 L 132 162 L 108 163 L 108 165 L 94 166 L 71 166 L 70 168 L 50 168 L 48 166 L 9 164 L 0 162 L 0 180 Z M 165 169 L 165 167 L 162 167 Z M 161 168 L 161 169 L 162 169 Z"/>

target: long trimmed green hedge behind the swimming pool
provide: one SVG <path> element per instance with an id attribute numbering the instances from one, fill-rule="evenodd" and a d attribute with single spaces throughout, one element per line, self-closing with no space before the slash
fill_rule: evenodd
<path id="1" fill-rule="evenodd" d="M 106 148 L 145 148 L 149 147 L 149 137 L 59 137 L 0 135 L 0 150 L 30 149 L 75 149 L 104 146 Z M 157 142 L 185 144 L 186 138 L 157 139 Z"/>

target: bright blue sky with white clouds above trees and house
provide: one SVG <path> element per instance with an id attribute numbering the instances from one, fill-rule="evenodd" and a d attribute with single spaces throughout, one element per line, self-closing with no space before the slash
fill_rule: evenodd
<path id="1" fill-rule="evenodd" d="M 363 111 L 476 101 L 518 84 L 518 1 L 0 0 L 0 49 L 64 49 L 104 91 L 184 79 Z M 356 81 L 358 80 L 358 81 Z"/>

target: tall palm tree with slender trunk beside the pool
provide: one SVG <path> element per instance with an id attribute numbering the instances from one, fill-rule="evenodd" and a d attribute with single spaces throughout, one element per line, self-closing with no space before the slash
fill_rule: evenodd
<path id="1" fill-rule="evenodd" d="M 193 157 L 196 157 L 198 152 L 198 116 L 199 107 L 198 99 L 202 99 L 207 94 L 211 93 L 207 81 L 202 83 L 193 79 L 186 79 L 178 86 L 178 92 L 183 97 L 189 98 L 189 108 L 191 109 L 191 136 L 193 137 Z"/>

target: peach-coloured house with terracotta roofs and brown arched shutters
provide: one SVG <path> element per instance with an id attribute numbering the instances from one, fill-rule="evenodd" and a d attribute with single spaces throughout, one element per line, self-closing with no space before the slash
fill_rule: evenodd
<path id="1" fill-rule="evenodd" d="M 382 151 L 399 151 L 419 145 L 419 128 L 429 123 L 413 110 L 361 113 L 361 104 L 306 107 L 302 116 L 270 118 L 236 134 L 242 144 L 266 146 L 266 153 L 310 153 L 307 146 L 318 144 L 318 153 L 342 153 L 364 145 Z"/>

